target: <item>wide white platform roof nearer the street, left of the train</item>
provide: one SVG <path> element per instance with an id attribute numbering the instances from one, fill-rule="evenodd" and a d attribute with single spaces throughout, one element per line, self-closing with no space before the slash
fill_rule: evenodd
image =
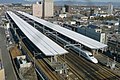
<path id="1" fill-rule="evenodd" d="M 37 29 L 32 27 L 13 12 L 7 11 L 7 13 L 20 28 L 20 30 L 27 36 L 27 38 L 32 41 L 46 56 L 62 55 L 68 53 L 61 46 L 43 35 L 41 32 L 39 32 Z"/>

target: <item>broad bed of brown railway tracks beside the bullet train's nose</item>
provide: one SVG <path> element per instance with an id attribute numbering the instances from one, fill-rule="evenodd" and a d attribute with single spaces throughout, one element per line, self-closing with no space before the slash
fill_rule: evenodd
<path id="1" fill-rule="evenodd" d="M 51 37 L 50 37 L 51 38 Z M 51 38 L 54 40 L 53 38 Z M 55 41 L 55 40 L 54 40 Z M 58 43 L 58 42 L 57 42 Z M 58 43 L 60 44 L 60 43 Z M 61 45 L 61 44 L 60 44 Z M 62 46 L 62 45 L 61 45 Z M 81 57 L 78 57 L 76 53 L 69 50 L 69 54 L 66 55 L 66 62 L 70 70 L 80 79 L 91 79 L 91 80 L 104 80 L 104 79 L 119 79 L 120 76 L 114 74 L 104 66 L 100 64 L 93 64 L 89 61 L 84 60 Z M 60 57 L 61 60 L 64 57 Z M 81 64 L 80 64 L 81 63 Z"/>

